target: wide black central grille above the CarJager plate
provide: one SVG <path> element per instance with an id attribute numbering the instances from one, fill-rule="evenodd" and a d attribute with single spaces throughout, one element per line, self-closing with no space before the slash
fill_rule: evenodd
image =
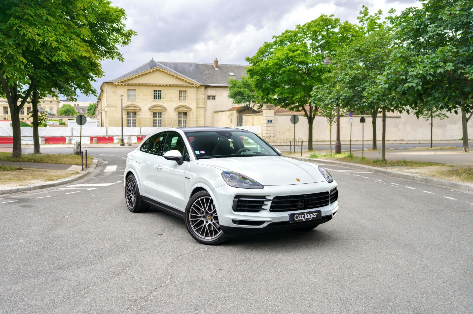
<path id="1" fill-rule="evenodd" d="M 301 209 L 324 207 L 330 204 L 330 193 L 312 193 L 301 195 L 275 196 L 272 199 L 270 212 L 289 212 Z"/>

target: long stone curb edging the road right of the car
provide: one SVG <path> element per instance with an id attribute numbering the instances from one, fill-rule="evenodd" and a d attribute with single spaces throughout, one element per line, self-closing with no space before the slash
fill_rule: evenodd
<path id="1" fill-rule="evenodd" d="M 429 177 L 420 176 L 418 174 L 410 174 L 410 173 L 405 173 L 405 172 L 400 172 L 400 171 L 386 170 L 386 169 L 381 169 L 377 167 L 359 165 L 356 163 L 350 163 L 350 162 L 344 162 L 344 161 L 331 161 L 331 160 L 326 160 L 326 159 L 294 157 L 294 156 L 288 156 L 288 155 L 284 155 L 284 156 L 292 158 L 292 159 L 300 160 L 300 161 L 310 161 L 310 162 L 315 162 L 315 163 L 320 162 L 320 163 L 325 163 L 325 164 L 334 165 L 334 166 L 348 167 L 348 168 L 352 168 L 356 170 L 367 170 L 367 171 L 379 173 L 385 176 L 408 179 L 412 181 L 420 181 L 420 182 L 434 184 L 441 187 L 450 187 L 450 188 L 456 188 L 462 191 L 473 192 L 473 184 L 469 184 L 469 183 L 461 183 L 461 182 L 447 181 L 447 180 L 437 179 L 437 178 L 429 178 Z"/>

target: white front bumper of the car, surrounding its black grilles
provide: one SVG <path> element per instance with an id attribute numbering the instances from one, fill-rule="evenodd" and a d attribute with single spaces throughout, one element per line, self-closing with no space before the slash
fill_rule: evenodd
<path id="1" fill-rule="evenodd" d="M 216 187 L 212 190 L 217 203 L 217 210 L 219 213 L 219 222 L 222 230 L 225 233 L 241 233 L 237 229 L 245 229 L 243 233 L 260 231 L 270 231 L 271 229 L 293 229 L 308 226 L 310 224 L 320 224 L 327 222 L 333 218 L 333 214 L 338 210 L 338 201 L 328 204 L 324 207 L 317 207 L 313 209 L 302 209 L 290 212 L 270 212 L 271 202 L 267 201 L 260 212 L 234 212 L 232 210 L 233 199 L 237 195 L 254 195 L 265 196 L 267 199 L 273 199 L 275 196 L 281 195 L 300 195 L 311 194 L 319 192 L 330 192 L 337 183 L 317 182 L 309 184 L 295 184 L 286 186 L 265 186 L 263 189 L 242 189 L 230 187 L 227 184 Z M 322 217 L 316 221 L 289 223 L 289 214 L 295 212 L 309 212 L 320 210 Z M 259 221 L 262 223 L 259 226 L 238 225 L 233 221 Z"/>

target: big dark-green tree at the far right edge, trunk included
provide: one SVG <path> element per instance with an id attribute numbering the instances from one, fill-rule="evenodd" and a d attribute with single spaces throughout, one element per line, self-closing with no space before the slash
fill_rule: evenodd
<path id="1" fill-rule="evenodd" d="M 471 0 L 428 0 L 394 19 L 402 44 L 383 75 L 385 88 L 412 107 L 436 103 L 461 111 L 463 150 L 468 152 L 468 121 L 473 115 L 473 10 Z"/>

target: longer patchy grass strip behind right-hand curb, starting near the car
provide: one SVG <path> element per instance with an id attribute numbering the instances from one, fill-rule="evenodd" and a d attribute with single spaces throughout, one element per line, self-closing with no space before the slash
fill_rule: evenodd
<path id="1" fill-rule="evenodd" d="M 385 160 L 382 161 L 380 159 L 369 159 L 366 157 L 360 158 L 354 156 L 353 154 L 349 153 L 340 153 L 340 154 L 320 154 L 320 153 L 312 153 L 309 155 L 309 158 L 322 158 L 328 160 L 337 160 L 337 161 L 345 161 L 351 163 L 358 163 L 361 165 L 373 166 L 373 167 L 425 167 L 425 166 L 441 166 L 439 163 L 434 162 L 424 162 L 424 161 L 408 161 L 405 159 L 402 160 Z"/>

